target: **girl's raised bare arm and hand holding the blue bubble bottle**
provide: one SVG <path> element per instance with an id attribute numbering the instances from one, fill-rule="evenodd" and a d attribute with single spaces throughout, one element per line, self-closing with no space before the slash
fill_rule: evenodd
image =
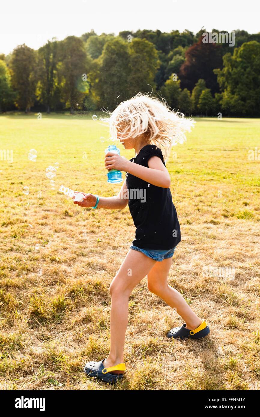
<path id="1" fill-rule="evenodd" d="M 108 152 L 105 158 L 106 169 L 118 169 L 126 171 L 135 177 L 156 185 L 157 187 L 169 188 L 171 178 L 167 168 L 158 156 L 152 156 L 148 161 L 149 168 L 138 163 L 130 162 L 117 153 Z"/>

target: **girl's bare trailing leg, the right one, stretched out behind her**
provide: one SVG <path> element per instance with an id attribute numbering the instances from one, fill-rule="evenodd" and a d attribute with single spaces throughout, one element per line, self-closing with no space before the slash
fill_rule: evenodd
<path id="1" fill-rule="evenodd" d="M 202 320 L 188 306 L 179 291 L 169 286 L 167 282 L 171 264 L 172 258 L 164 259 L 162 262 L 156 262 L 148 274 L 148 289 L 162 298 L 169 306 L 176 309 L 177 313 L 187 324 L 187 329 L 197 329 L 202 323 Z"/>

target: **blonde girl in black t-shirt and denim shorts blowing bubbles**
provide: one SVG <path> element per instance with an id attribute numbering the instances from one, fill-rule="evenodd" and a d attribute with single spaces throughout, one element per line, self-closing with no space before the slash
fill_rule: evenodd
<path id="1" fill-rule="evenodd" d="M 128 161 L 117 153 L 106 154 L 106 169 L 126 172 L 119 194 L 99 197 L 84 194 L 80 207 L 122 209 L 129 205 L 136 236 L 123 264 L 111 282 L 111 344 L 106 359 L 86 363 L 90 377 L 114 382 L 123 377 L 124 340 L 128 323 L 128 302 L 131 291 L 147 275 L 148 289 L 174 308 L 184 320 L 181 327 L 169 330 L 167 337 L 199 339 L 210 332 L 204 320 L 192 311 L 182 295 L 167 284 L 172 256 L 181 233 L 170 191 L 170 176 L 165 167 L 171 146 L 186 140 L 194 121 L 182 113 L 170 111 L 164 102 L 139 93 L 122 102 L 109 118 L 112 137 L 125 149 L 135 150 Z M 74 197 L 73 197 L 74 198 Z"/>

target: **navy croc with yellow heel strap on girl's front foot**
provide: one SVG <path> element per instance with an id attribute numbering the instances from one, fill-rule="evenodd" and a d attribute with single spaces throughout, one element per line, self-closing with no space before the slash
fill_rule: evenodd
<path id="1" fill-rule="evenodd" d="M 103 365 L 104 360 L 105 359 L 99 362 L 86 363 L 86 365 L 84 366 L 84 371 L 91 378 L 101 379 L 102 381 L 110 382 L 111 384 L 122 379 L 124 374 L 115 375 L 115 374 L 110 374 L 110 372 L 111 371 L 112 372 L 113 371 L 125 371 L 126 365 L 122 363 L 122 364 L 117 364 L 115 366 L 111 366 L 109 368 L 105 368 Z"/>

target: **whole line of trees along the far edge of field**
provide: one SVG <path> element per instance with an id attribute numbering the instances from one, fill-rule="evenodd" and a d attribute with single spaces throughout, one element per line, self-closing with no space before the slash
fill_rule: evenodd
<path id="1" fill-rule="evenodd" d="M 0 55 L 0 111 L 113 111 L 143 91 L 187 115 L 260 116 L 260 33 L 236 30 L 234 47 L 204 33 L 91 30 L 18 45 Z"/>

